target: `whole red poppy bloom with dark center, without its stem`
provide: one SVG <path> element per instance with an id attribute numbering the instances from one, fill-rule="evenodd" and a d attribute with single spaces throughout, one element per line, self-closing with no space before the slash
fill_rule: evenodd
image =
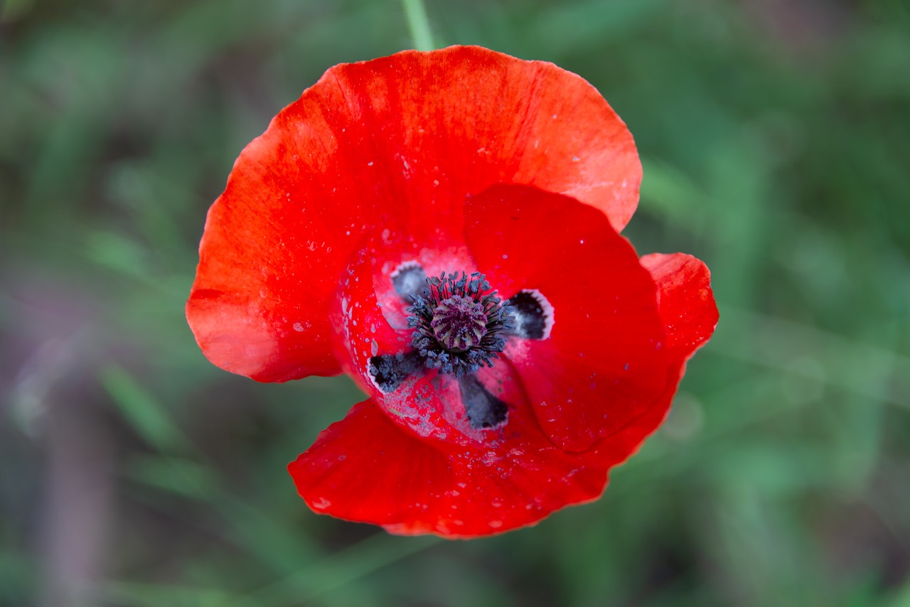
<path id="1" fill-rule="evenodd" d="M 369 399 L 289 465 L 317 512 L 471 537 L 591 501 L 661 423 L 717 310 L 638 258 L 632 136 L 579 76 L 478 47 L 335 66 L 243 151 L 187 319 L 260 381 Z"/>

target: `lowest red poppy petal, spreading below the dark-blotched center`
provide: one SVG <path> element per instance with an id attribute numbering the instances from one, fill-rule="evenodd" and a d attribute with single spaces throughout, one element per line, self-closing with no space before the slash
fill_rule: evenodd
<path id="1" fill-rule="evenodd" d="M 288 465 L 313 511 L 399 534 L 469 538 L 532 524 L 591 501 L 607 481 L 607 453 L 585 456 L 543 439 L 511 450 L 447 450 L 402 431 L 371 401 L 324 430 Z"/>

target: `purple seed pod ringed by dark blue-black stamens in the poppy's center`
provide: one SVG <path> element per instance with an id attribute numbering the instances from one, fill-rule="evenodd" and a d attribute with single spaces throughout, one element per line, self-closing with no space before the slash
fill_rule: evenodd
<path id="1" fill-rule="evenodd" d="M 481 365 L 492 367 L 505 348 L 503 334 L 512 329 L 509 304 L 496 297 L 480 272 L 443 272 L 426 284 L 408 309 L 411 344 L 424 364 L 459 378 Z"/>

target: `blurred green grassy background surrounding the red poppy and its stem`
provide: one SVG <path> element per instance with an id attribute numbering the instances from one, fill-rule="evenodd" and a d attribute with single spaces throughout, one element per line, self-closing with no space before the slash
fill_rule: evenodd
<path id="1" fill-rule="evenodd" d="M 910 8 L 429 2 L 438 46 L 597 86 L 626 235 L 721 323 L 602 500 L 480 541 L 312 514 L 285 471 L 359 393 L 216 369 L 183 304 L 240 149 L 398 2 L 0 0 L 0 605 L 910 604 Z"/>

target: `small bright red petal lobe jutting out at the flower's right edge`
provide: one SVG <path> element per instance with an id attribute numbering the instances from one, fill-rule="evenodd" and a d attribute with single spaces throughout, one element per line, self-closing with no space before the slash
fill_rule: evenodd
<path id="1" fill-rule="evenodd" d="M 702 260 L 685 253 L 645 255 L 642 266 L 657 283 L 667 347 L 689 359 L 717 326 L 711 272 Z"/>

